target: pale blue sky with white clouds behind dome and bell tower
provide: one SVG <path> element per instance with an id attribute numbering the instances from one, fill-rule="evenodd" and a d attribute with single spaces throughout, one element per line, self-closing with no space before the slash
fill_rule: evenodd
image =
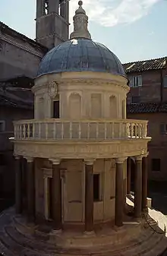
<path id="1" fill-rule="evenodd" d="M 55 0 L 56 1 L 56 0 Z M 70 22 L 77 8 L 70 0 Z M 122 63 L 167 55 L 167 0 L 83 0 L 92 39 Z M 5 0 L 0 21 L 35 38 L 36 0 Z"/>

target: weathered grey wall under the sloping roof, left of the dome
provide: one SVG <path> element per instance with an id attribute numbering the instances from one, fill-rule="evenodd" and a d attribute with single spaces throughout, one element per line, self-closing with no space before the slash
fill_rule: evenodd
<path id="1" fill-rule="evenodd" d="M 0 81 L 19 76 L 36 76 L 44 55 L 42 50 L 36 50 L 26 40 L 3 34 L 1 30 L 0 48 Z"/>

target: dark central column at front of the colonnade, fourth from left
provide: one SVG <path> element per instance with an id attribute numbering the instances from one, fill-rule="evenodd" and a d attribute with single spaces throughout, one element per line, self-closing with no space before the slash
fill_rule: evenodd
<path id="1" fill-rule="evenodd" d="M 93 232 L 93 163 L 85 160 L 85 232 Z"/>

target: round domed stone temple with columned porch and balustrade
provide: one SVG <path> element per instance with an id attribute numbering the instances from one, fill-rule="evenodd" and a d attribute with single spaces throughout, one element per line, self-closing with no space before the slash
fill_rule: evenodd
<path id="1" fill-rule="evenodd" d="M 147 210 L 147 121 L 126 119 L 124 68 L 106 46 L 91 40 L 87 24 L 79 1 L 70 40 L 39 65 L 34 119 L 14 122 L 14 226 L 45 239 L 45 255 L 102 253 L 130 234 L 134 239 Z M 127 228 L 131 158 L 137 224 Z M 55 251 L 49 254 L 51 245 Z"/>

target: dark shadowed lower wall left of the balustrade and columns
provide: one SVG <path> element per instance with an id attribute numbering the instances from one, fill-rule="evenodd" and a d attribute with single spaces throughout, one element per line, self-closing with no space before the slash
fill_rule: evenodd
<path id="1" fill-rule="evenodd" d="M 5 122 L 5 131 L 0 132 L 0 197 L 11 196 L 14 191 L 13 121 L 33 119 L 33 110 L 0 106 L 0 121 Z M 14 195 L 14 194 L 13 194 Z"/>

